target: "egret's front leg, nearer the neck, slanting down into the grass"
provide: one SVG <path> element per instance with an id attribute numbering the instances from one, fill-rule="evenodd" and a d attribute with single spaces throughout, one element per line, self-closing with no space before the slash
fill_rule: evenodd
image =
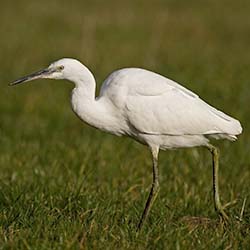
<path id="1" fill-rule="evenodd" d="M 138 227 L 137 227 L 137 231 L 139 231 L 142 228 L 142 226 L 143 226 L 143 224 L 144 224 L 144 222 L 149 214 L 150 208 L 152 207 L 152 205 L 157 197 L 157 194 L 159 192 L 159 189 L 160 189 L 159 172 L 158 172 L 159 147 L 158 146 L 151 147 L 150 149 L 151 149 L 152 158 L 153 158 L 153 182 L 152 182 L 152 187 L 151 187 L 144 211 L 142 213 L 140 222 L 139 222 Z"/>

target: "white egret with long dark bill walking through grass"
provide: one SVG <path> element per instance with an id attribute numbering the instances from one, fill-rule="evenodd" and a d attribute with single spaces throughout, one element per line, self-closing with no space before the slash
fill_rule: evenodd
<path id="1" fill-rule="evenodd" d="M 153 159 L 153 182 L 142 213 L 140 229 L 159 191 L 159 149 L 204 146 L 213 157 L 214 206 L 227 219 L 218 186 L 218 149 L 211 138 L 234 141 L 241 134 L 238 120 L 210 106 L 178 83 L 140 68 L 114 71 L 95 96 L 94 76 L 75 59 L 60 59 L 46 69 L 20 78 L 10 85 L 38 78 L 67 79 L 75 84 L 71 105 L 87 124 L 117 136 L 129 136 L 149 147 Z"/>

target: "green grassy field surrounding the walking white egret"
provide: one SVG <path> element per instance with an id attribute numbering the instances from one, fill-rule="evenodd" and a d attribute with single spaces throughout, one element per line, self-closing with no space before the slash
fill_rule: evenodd
<path id="1" fill-rule="evenodd" d="M 249 249 L 249 11 L 244 0 L 2 2 L 0 249 Z M 7 86 L 61 57 L 85 63 L 97 91 L 111 71 L 143 67 L 242 122 L 237 142 L 215 142 L 222 202 L 237 201 L 226 227 L 213 208 L 210 153 L 167 151 L 136 237 L 151 184 L 147 148 L 80 122 L 66 81 Z"/>

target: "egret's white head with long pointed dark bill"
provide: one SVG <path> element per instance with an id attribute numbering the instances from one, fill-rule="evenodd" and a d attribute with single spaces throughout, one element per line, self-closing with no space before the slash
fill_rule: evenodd
<path id="1" fill-rule="evenodd" d="M 76 59 L 63 58 L 55 61 L 49 65 L 49 67 L 39 70 L 30 75 L 24 76 L 10 83 L 10 85 L 16 85 L 24 82 L 29 82 L 35 79 L 67 79 L 75 81 L 75 79 L 81 76 L 82 72 L 86 70 L 86 67 Z"/>

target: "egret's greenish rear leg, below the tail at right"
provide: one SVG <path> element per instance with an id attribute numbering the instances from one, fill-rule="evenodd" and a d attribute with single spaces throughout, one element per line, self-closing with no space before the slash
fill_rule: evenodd
<path id="1" fill-rule="evenodd" d="M 213 157 L 213 193 L 214 193 L 214 207 L 215 210 L 218 211 L 219 215 L 222 217 L 224 221 L 228 220 L 227 214 L 223 210 L 223 206 L 220 202 L 220 194 L 219 194 L 219 150 L 213 145 L 209 144 L 208 149 L 212 153 Z"/>

